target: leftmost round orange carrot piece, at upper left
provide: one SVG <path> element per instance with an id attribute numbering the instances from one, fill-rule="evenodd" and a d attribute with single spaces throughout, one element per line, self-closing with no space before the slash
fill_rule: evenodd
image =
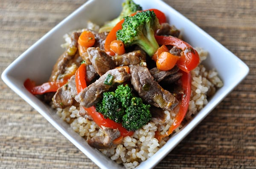
<path id="1" fill-rule="evenodd" d="M 78 39 L 78 44 L 84 47 L 92 47 L 95 43 L 94 34 L 91 31 L 83 31 Z"/>

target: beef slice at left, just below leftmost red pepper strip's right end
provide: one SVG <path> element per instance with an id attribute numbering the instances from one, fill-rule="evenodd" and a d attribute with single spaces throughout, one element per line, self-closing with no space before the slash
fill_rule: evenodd
<path id="1" fill-rule="evenodd" d="M 58 88 L 57 92 L 52 98 L 53 104 L 61 109 L 71 106 L 76 103 L 74 99 L 76 94 L 76 81 L 75 76 L 73 75 L 66 85 Z"/>

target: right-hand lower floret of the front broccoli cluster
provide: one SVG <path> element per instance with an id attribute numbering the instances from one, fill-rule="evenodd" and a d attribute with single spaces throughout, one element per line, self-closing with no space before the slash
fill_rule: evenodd
<path id="1" fill-rule="evenodd" d="M 137 130 L 147 124 L 151 119 L 149 104 L 143 104 L 142 99 L 134 97 L 131 99 L 131 105 L 125 110 L 122 118 L 122 126 L 127 130 Z"/>

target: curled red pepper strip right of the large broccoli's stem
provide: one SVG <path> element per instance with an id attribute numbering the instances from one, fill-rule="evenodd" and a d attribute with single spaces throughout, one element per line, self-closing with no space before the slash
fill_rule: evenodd
<path id="1" fill-rule="evenodd" d="M 200 62 L 198 52 L 187 42 L 172 36 L 155 35 L 155 38 L 160 45 L 173 45 L 182 50 L 180 59 L 177 61 L 177 66 L 181 70 L 188 73 L 198 66 Z"/>

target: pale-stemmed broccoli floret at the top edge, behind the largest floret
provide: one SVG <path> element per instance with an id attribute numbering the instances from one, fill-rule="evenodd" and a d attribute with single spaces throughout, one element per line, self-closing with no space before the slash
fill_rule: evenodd
<path id="1" fill-rule="evenodd" d="M 115 19 L 109 21 L 105 25 L 103 25 L 100 29 L 99 32 L 104 32 L 104 31 L 111 31 L 111 29 L 124 17 L 129 16 L 136 11 L 141 11 L 142 7 L 136 3 L 134 3 L 133 0 L 125 0 L 124 3 L 122 3 L 122 11 L 119 14 L 118 17 Z"/>

